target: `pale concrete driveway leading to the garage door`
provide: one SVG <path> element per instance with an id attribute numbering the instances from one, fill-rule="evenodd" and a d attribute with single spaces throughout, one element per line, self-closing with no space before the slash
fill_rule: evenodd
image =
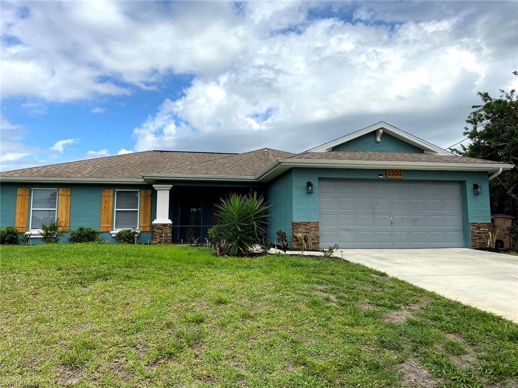
<path id="1" fill-rule="evenodd" d="M 518 256 L 448 249 L 341 249 L 337 256 L 518 323 Z"/>

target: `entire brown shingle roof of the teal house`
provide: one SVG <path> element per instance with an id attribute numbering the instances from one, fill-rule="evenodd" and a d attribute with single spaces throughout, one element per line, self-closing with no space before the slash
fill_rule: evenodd
<path id="1" fill-rule="evenodd" d="M 265 152 L 266 151 L 266 152 Z M 304 159 L 329 161 L 375 162 L 428 162 L 428 163 L 484 163 L 499 162 L 473 159 L 455 155 L 401 152 L 289 152 L 262 148 L 240 154 L 143 151 L 131 154 L 99 157 L 77 162 L 52 164 L 18 170 L 4 171 L 0 177 L 20 178 L 77 178 L 77 179 L 136 179 L 143 182 L 141 174 L 149 175 L 200 175 L 254 178 L 277 159 Z"/>

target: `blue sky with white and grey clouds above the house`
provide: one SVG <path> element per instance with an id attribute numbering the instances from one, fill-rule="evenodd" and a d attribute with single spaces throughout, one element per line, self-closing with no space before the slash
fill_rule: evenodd
<path id="1" fill-rule="evenodd" d="M 385 121 L 447 148 L 518 89 L 518 2 L 0 3 L 3 170 L 301 152 Z"/>

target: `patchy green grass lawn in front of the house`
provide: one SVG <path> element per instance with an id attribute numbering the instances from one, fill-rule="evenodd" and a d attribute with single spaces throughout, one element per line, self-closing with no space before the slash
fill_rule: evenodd
<path id="1" fill-rule="evenodd" d="M 517 325 L 357 264 L 184 246 L 0 253 L 4 384 L 401 387 L 410 360 L 439 386 L 518 379 Z"/>

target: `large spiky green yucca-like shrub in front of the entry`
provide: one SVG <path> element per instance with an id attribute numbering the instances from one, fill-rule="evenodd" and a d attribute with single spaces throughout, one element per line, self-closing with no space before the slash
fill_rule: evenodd
<path id="1" fill-rule="evenodd" d="M 261 243 L 266 234 L 266 223 L 270 205 L 257 193 L 249 195 L 231 194 L 218 205 L 221 224 L 217 231 L 220 239 L 228 245 L 233 256 L 248 255 L 254 245 Z"/>

